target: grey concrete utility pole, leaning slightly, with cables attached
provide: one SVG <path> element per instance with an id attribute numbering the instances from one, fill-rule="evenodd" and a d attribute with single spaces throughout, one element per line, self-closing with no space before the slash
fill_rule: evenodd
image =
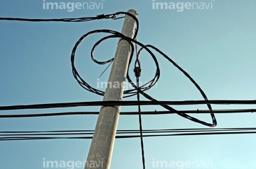
<path id="1" fill-rule="evenodd" d="M 129 10 L 128 12 L 137 17 L 136 11 Z M 122 34 L 127 37 L 134 37 L 135 25 L 134 18 L 125 16 Z M 120 40 L 114 55 L 114 62 L 112 63 L 103 101 L 122 100 L 130 52 L 129 42 L 127 40 Z M 110 168 L 120 109 L 120 106 L 101 107 L 85 169 Z"/>

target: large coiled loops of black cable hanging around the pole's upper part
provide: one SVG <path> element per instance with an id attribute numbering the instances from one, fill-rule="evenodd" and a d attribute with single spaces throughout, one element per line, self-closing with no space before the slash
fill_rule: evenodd
<path id="1" fill-rule="evenodd" d="M 152 45 L 143 45 L 141 42 L 138 42 L 137 40 L 134 40 L 130 37 L 126 37 L 124 35 L 122 35 L 122 33 L 119 33 L 117 31 L 114 31 L 114 30 L 93 30 L 85 35 L 83 35 L 82 37 L 80 37 L 80 40 L 78 40 L 78 42 L 75 44 L 75 47 L 73 48 L 73 52 L 71 54 L 71 63 L 72 63 L 72 68 L 73 68 L 73 75 L 74 77 L 77 79 L 78 83 L 80 84 L 80 86 L 82 86 L 83 88 L 85 88 L 87 91 L 91 91 L 92 93 L 96 93 L 98 95 L 104 95 L 104 91 L 100 91 L 96 88 L 92 88 L 92 86 L 90 86 L 88 83 L 86 83 L 81 77 L 80 75 L 78 74 L 78 71 L 75 69 L 75 64 L 74 64 L 74 61 L 75 61 L 75 50 L 77 49 L 78 45 L 80 44 L 80 42 L 82 42 L 82 40 L 84 40 L 87 36 L 93 34 L 93 33 L 110 33 L 112 35 L 109 35 L 107 37 L 103 37 L 101 40 L 97 41 L 97 43 L 94 45 L 94 47 L 92 48 L 92 51 L 91 51 L 91 57 L 92 59 L 96 62 L 96 63 L 99 63 L 99 64 L 106 64 L 108 62 L 111 62 L 112 59 L 108 60 L 107 62 L 98 62 L 94 56 L 93 56 L 93 51 L 95 50 L 95 47 L 97 47 L 97 45 L 100 44 L 100 42 L 104 41 L 104 40 L 107 40 L 109 38 L 113 38 L 113 37 L 121 37 L 123 38 L 124 40 L 127 40 L 131 47 L 132 47 L 132 52 L 131 52 L 131 55 L 130 55 L 130 58 L 129 58 L 129 66 L 132 62 L 132 57 L 133 57 L 133 53 L 134 53 L 134 45 L 132 44 L 132 42 L 134 42 L 135 44 L 141 46 L 142 48 L 139 49 L 139 52 L 138 54 L 142 51 L 142 49 L 145 49 L 147 52 L 149 52 L 149 54 L 151 55 L 152 59 L 154 59 L 154 62 L 156 64 L 156 74 L 154 76 L 154 78 L 152 78 L 151 81 L 145 83 L 144 85 L 142 86 L 137 86 L 136 84 L 134 84 L 131 80 L 131 78 L 129 77 L 129 73 L 127 73 L 127 80 L 129 81 L 130 84 L 132 84 L 132 86 L 134 87 L 134 89 L 129 89 L 127 91 L 124 91 L 124 94 L 126 96 L 125 97 L 130 97 L 132 95 L 137 95 L 137 93 L 139 92 L 140 94 L 144 95 L 145 98 L 149 99 L 149 100 L 152 100 L 152 101 L 157 101 L 156 99 L 152 98 L 150 95 L 147 95 L 146 93 L 144 93 L 144 91 L 147 91 L 149 90 L 149 88 L 153 87 L 156 82 L 159 80 L 159 76 L 160 76 L 160 69 L 159 69 L 159 64 L 157 62 L 157 59 L 155 57 L 155 55 L 153 54 L 153 52 L 151 52 L 151 50 L 149 48 L 152 48 L 154 49 L 156 52 L 159 52 L 159 54 L 161 54 L 162 56 L 164 56 L 167 60 L 169 60 L 169 62 L 171 62 L 172 64 L 174 64 L 174 66 L 176 66 L 181 72 L 183 72 L 183 74 L 185 76 L 187 76 L 191 82 L 196 86 L 196 88 L 198 88 L 198 90 L 201 92 L 201 95 L 203 95 L 203 98 L 205 100 L 208 100 L 208 98 L 206 97 L 206 94 L 203 92 L 203 90 L 200 88 L 200 86 L 198 86 L 198 84 L 196 83 L 196 81 L 193 80 L 193 78 L 191 78 L 191 76 L 189 76 L 188 73 L 186 73 L 186 71 L 184 71 L 183 69 L 181 69 L 180 66 L 178 66 L 178 64 L 176 64 L 172 59 L 170 59 L 166 54 L 164 54 L 163 52 L 161 52 L 159 49 L 157 49 L 156 47 L 152 46 Z M 139 62 L 137 62 L 139 63 Z M 128 70 L 127 72 L 129 72 L 129 66 L 128 66 Z M 171 112 L 175 112 L 176 114 L 180 115 L 181 117 L 185 117 L 186 119 L 188 120 L 191 120 L 193 122 L 198 122 L 200 124 L 203 124 L 203 125 L 206 125 L 208 127 L 215 127 L 216 124 L 217 124 L 217 121 L 215 120 L 215 116 L 213 113 L 210 113 L 211 115 L 211 118 L 213 120 L 213 123 L 207 123 L 207 122 L 203 122 L 201 120 L 198 120 L 196 119 L 195 117 L 191 117 L 189 115 L 186 115 L 186 113 L 183 113 L 182 111 L 178 111 L 178 110 L 175 110 L 173 107 L 170 107 L 169 105 L 161 105 L 162 107 L 166 108 L 167 110 L 171 111 Z M 210 111 L 212 111 L 212 108 L 210 106 L 210 104 L 208 104 L 208 108 Z"/>

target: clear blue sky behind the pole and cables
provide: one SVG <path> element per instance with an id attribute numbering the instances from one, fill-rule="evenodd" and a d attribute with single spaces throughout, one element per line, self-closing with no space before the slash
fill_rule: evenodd
<path id="1" fill-rule="evenodd" d="M 53 0 L 46 2 L 61 2 Z M 203 88 L 209 100 L 255 100 L 256 95 L 256 1 L 255 0 L 174 0 L 177 3 L 203 3 L 204 9 L 153 9 L 153 1 L 75 0 L 65 3 L 102 3 L 99 9 L 43 9 L 43 0 L 0 2 L 0 17 L 78 18 L 115 13 L 134 8 L 139 13 L 137 40 L 155 45 L 185 69 Z M 169 2 L 155 0 L 156 2 Z M 210 5 L 210 6 L 209 6 Z M 207 9 L 208 8 L 208 9 Z M 0 21 L 0 105 L 67 103 L 102 100 L 81 88 L 71 71 L 70 54 L 75 42 L 90 30 L 120 31 L 123 20 L 86 23 L 31 23 Z M 76 65 L 92 86 L 106 81 L 109 70 L 94 64 L 90 48 L 100 35 L 90 37 L 78 48 Z M 117 40 L 103 42 L 95 54 L 106 60 L 114 56 Z M 151 79 L 154 64 L 142 53 L 142 79 Z M 148 91 L 157 100 L 202 100 L 193 84 L 174 66 L 158 56 L 161 77 Z M 135 100 L 127 98 L 125 100 Z M 142 98 L 143 100 L 146 100 Z M 175 106 L 178 110 L 206 109 L 205 105 Z M 213 105 L 213 109 L 256 108 L 255 105 Z M 52 110 L 2 111 L 22 114 L 60 111 L 98 111 L 100 107 L 75 107 Z M 137 107 L 122 107 L 136 111 Z M 164 110 L 158 106 L 146 110 Z M 196 115 L 211 122 L 210 115 Z M 216 115 L 218 126 L 255 127 L 255 114 Z M 95 129 L 96 115 L 0 119 L 1 131 L 45 131 Z M 206 128 L 178 115 L 144 115 L 144 129 Z M 119 118 L 118 129 L 139 129 L 137 116 Z M 255 168 L 255 134 L 214 136 L 165 136 L 145 138 L 146 168 L 156 168 L 156 161 L 203 161 L 208 168 Z M 43 168 L 49 161 L 85 161 L 90 139 L 1 141 L 0 168 Z M 117 139 L 112 169 L 142 168 L 139 139 Z M 164 168 L 171 168 L 170 166 Z M 176 165 L 175 168 L 178 168 Z M 180 167 L 181 168 L 181 167 Z M 185 167 L 183 167 L 185 168 Z M 192 167 L 190 167 L 192 168 Z M 193 168 L 196 168 L 194 166 Z M 200 167 L 197 167 L 200 168 Z M 206 168 L 206 166 L 204 167 Z"/>

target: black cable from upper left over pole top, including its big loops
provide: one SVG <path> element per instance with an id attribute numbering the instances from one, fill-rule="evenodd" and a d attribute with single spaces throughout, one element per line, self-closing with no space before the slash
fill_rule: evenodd
<path id="1" fill-rule="evenodd" d="M 132 18 L 134 18 L 134 20 L 136 21 L 137 23 L 137 28 L 136 28 L 136 31 L 134 33 L 134 38 L 130 38 L 130 37 L 126 37 L 124 35 L 122 35 L 122 33 L 119 33 L 117 31 L 114 31 L 114 30 L 93 30 L 93 31 L 90 31 L 89 33 L 85 34 L 85 35 L 82 35 L 82 37 L 80 37 L 80 39 L 78 40 L 78 42 L 76 42 L 75 44 L 75 47 L 73 48 L 73 51 L 72 51 L 72 54 L 71 54 L 71 65 L 72 65 L 72 69 L 73 69 L 73 76 L 75 77 L 75 79 L 78 81 L 78 83 L 80 84 L 80 86 L 82 86 L 82 88 L 85 88 L 87 91 L 90 91 L 92 93 L 96 93 L 97 95 L 104 95 L 104 91 L 100 91 L 98 90 L 97 88 L 93 88 L 92 86 L 90 86 L 88 83 L 86 83 L 86 81 L 84 81 L 82 79 L 82 77 L 78 74 L 78 71 L 75 69 L 75 51 L 78 47 L 78 45 L 80 44 L 80 42 L 82 42 L 82 40 L 84 40 L 87 36 L 89 35 L 92 35 L 94 33 L 110 33 L 112 35 L 109 35 L 107 37 L 103 37 L 102 39 L 98 40 L 95 45 L 92 47 L 92 50 L 91 50 L 91 58 L 92 60 L 97 63 L 97 64 L 107 64 L 107 63 L 110 63 L 110 62 L 113 62 L 114 58 L 112 59 L 109 59 L 105 62 L 99 62 L 97 61 L 97 59 L 95 59 L 94 57 L 94 51 L 95 51 L 95 48 L 97 47 L 97 45 L 100 44 L 100 42 L 104 41 L 104 40 L 107 40 L 109 38 L 121 38 L 121 39 L 124 39 L 124 40 L 127 40 L 127 42 L 129 42 L 130 46 L 132 47 L 132 52 L 130 54 L 130 59 L 129 59 L 129 65 L 131 64 L 131 61 L 132 61 L 132 57 L 133 57 L 133 53 L 134 53 L 134 45 L 132 44 L 133 42 L 139 46 L 141 46 L 142 48 L 139 49 L 139 52 L 137 54 L 137 59 L 136 59 L 136 62 L 134 64 L 134 72 L 135 72 L 135 76 L 137 77 L 137 81 L 138 81 L 138 78 L 141 74 L 141 68 L 140 68 L 140 62 L 139 62 L 139 54 L 140 52 L 142 51 L 142 49 L 146 49 L 147 52 L 149 52 L 149 54 L 151 55 L 151 58 L 154 60 L 154 63 L 156 64 L 156 73 L 154 75 L 154 77 L 151 79 L 151 81 L 143 84 L 142 86 L 137 86 L 135 85 L 131 78 L 129 78 L 129 73 L 127 73 L 127 80 L 129 81 L 130 84 L 132 84 L 132 86 L 134 87 L 134 89 L 129 89 L 127 91 L 124 91 L 124 98 L 126 97 L 130 97 L 132 95 L 137 95 L 137 93 L 141 93 L 142 95 L 144 95 L 145 98 L 148 98 L 149 100 L 152 100 L 152 101 L 156 101 L 156 99 L 154 98 L 151 98 L 151 96 L 147 95 L 146 93 L 144 93 L 144 91 L 147 91 L 149 90 L 150 88 L 152 88 L 154 85 L 156 85 L 156 82 L 159 81 L 159 77 L 160 77 L 160 69 L 159 69 L 159 64 L 157 62 L 157 59 L 155 57 L 155 55 L 153 54 L 153 52 L 151 52 L 151 50 L 149 48 L 152 48 L 154 49 L 156 52 L 159 52 L 159 54 L 161 54 L 162 56 L 164 56 L 166 59 L 169 60 L 169 62 L 171 62 L 172 64 L 174 64 L 174 66 L 176 66 L 180 71 L 183 72 L 183 74 L 185 74 L 190 80 L 191 82 L 196 86 L 196 88 L 198 88 L 198 90 L 201 92 L 201 95 L 203 95 L 203 98 L 205 100 L 208 100 L 208 98 L 206 97 L 205 93 L 203 93 L 203 90 L 200 88 L 200 86 L 198 86 L 198 84 L 196 83 L 196 81 L 193 80 L 193 78 L 191 78 L 191 76 L 189 76 L 186 71 L 183 71 L 183 69 L 181 69 L 180 66 L 178 66 L 175 62 L 173 62 L 169 57 L 166 56 L 166 54 L 164 54 L 163 52 L 161 52 L 159 49 L 157 49 L 156 47 L 152 46 L 152 45 L 143 45 L 142 43 L 138 42 L 136 39 L 137 37 L 137 33 L 138 33 L 138 30 L 139 30 L 139 21 L 137 19 L 136 16 L 132 15 L 132 13 L 128 13 L 128 12 L 117 12 L 117 13 L 113 13 L 113 14 L 108 14 L 108 15 L 99 15 L 97 17 L 91 17 L 91 18 L 88 18 L 88 17 L 84 17 L 84 18 L 65 18 L 65 19 L 55 19 L 55 20 L 31 20 L 31 19 L 22 19 L 22 18 L 0 18 L 0 20 L 18 20 L 18 21 L 73 21 L 73 22 L 81 22 L 81 21 L 91 21 L 91 20 L 95 20 L 95 19 L 102 19 L 102 18 L 112 18 L 112 19 L 115 19 L 117 15 L 120 15 L 120 14 L 124 14 L 124 15 L 128 15 L 128 16 L 131 16 Z M 129 66 L 128 66 L 128 70 L 127 72 L 129 72 Z M 178 115 L 181 115 L 182 117 L 185 117 L 187 118 L 188 120 L 192 120 L 193 122 L 198 122 L 198 123 L 201 123 L 201 124 L 204 124 L 206 126 L 210 126 L 210 127 L 215 127 L 215 125 L 217 124 L 216 120 L 215 120 L 215 116 L 213 113 L 211 113 L 211 117 L 212 117 L 212 120 L 213 120 L 213 124 L 209 124 L 209 123 L 206 123 L 206 122 L 203 122 L 201 120 L 198 120 L 194 117 L 191 117 L 189 115 L 186 115 L 185 113 L 183 112 L 180 112 L 180 111 L 177 111 L 175 110 L 174 108 L 168 106 L 168 105 L 161 105 L 162 107 L 165 107 L 167 110 L 171 111 L 171 112 L 175 112 L 177 113 Z M 210 111 L 212 111 L 212 108 L 210 106 L 210 104 L 208 104 L 208 108 Z"/>

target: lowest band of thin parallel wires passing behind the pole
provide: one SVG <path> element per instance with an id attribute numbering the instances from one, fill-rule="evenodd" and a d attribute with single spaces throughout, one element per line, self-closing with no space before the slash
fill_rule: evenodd
<path id="1" fill-rule="evenodd" d="M 44 132 L 49 132 L 45 134 Z M 57 132 L 57 134 L 52 134 Z M 62 133 L 69 132 L 69 133 Z M 75 133 L 73 133 L 75 132 Z M 35 131 L 35 132 L 0 132 L 0 141 L 18 141 L 18 140 L 35 140 L 35 139 L 92 139 L 92 136 L 65 136 L 65 135 L 88 135 L 92 130 L 79 130 L 75 131 Z M 86 133 L 84 133 L 86 132 Z M 25 133 L 25 134 L 23 134 Z M 29 133 L 29 134 L 26 134 Z M 32 133 L 32 134 L 31 134 Z M 138 133 L 137 135 L 124 135 Z M 202 136 L 202 135 L 223 135 L 223 134 L 256 134 L 256 128 L 223 128 L 223 129 L 154 129 L 143 130 L 143 137 L 156 137 L 156 136 Z M 161 133 L 161 134 L 157 134 Z M 168 134 L 170 133 L 170 134 Z M 117 131 L 116 139 L 128 139 L 142 137 L 139 130 L 121 130 Z M 63 135 L 63 136 L 61 136 Z"/>

